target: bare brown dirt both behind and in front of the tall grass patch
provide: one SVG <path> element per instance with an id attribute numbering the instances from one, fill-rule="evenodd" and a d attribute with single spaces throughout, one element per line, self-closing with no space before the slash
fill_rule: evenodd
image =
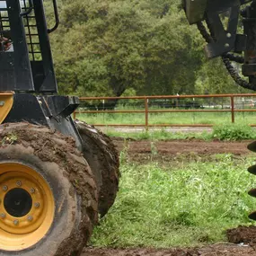
<path id="1" fill-rule="evenodd" d="M 115 137 L 114 143 L 119 152 L 126 151 L 131 161 L 148 163 L 148 160 L 168 163 L 179 159 L 210 159 L 216 154 L 234 154 L 243 157 L 250 154 L 247 149 L 250 141 L 205 142 L 199 140 L 179 140 L 150 142 L 146 140 L 124 140 Z M 256 256 L 256 227 L 237 227 L 226 232 L 229 243 L 217 243 L 202 248 L 189 249 L 93 249 L 87 248 L 83 256 Z"/>

